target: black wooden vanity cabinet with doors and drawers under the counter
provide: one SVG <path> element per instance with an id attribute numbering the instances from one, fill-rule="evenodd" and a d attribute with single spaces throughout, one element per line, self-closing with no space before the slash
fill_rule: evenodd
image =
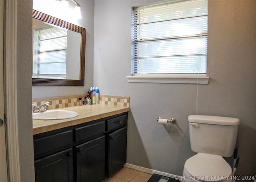
<path id="1" fill-rule="evenodd" d="M 102 182 L 126 162 L 127 113 L 34 135 L 36 182 Z"/>

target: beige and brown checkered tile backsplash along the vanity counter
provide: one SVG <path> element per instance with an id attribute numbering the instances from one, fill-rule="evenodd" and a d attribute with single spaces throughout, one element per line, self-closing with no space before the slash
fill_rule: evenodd
<path id="1" fill-rule="evenodd" d="M 46 102 L 50 102 L 48 109 L 66 108 L 71 106 L 79 106 L 79 98 L 86 95 L 62 96 L 52 98 L 32 99 L 32 104 L 40 106 Z M 127 96 L 111 96 L 100 94 L 99 104 L 112 106 L 128 106 L 130 107 L 130 97 Z"/>

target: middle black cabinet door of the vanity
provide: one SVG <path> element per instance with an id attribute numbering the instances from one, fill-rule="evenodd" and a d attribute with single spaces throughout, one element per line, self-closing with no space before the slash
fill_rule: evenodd
<path id="1" fill-rule="evenodd" d="M 105 177 L 105 136 L 76 147 L 77 182 L 101 182 Z"/>

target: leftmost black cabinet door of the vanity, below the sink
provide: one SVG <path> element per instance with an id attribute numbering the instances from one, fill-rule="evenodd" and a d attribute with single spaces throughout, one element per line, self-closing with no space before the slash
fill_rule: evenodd
<path id="1" fill-rule="evenodd" d="M 73 153 L 67 149 L 35 161 L 36 182 L 73 182 Z"/>

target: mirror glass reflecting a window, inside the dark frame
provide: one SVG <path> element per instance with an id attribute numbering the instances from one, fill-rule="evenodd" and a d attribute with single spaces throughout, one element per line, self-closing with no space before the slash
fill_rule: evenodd
<path id="1" fill-rule="evenodd" d="M 33 18 L 33 78 L 79 79 L 81 34 Z"/>

